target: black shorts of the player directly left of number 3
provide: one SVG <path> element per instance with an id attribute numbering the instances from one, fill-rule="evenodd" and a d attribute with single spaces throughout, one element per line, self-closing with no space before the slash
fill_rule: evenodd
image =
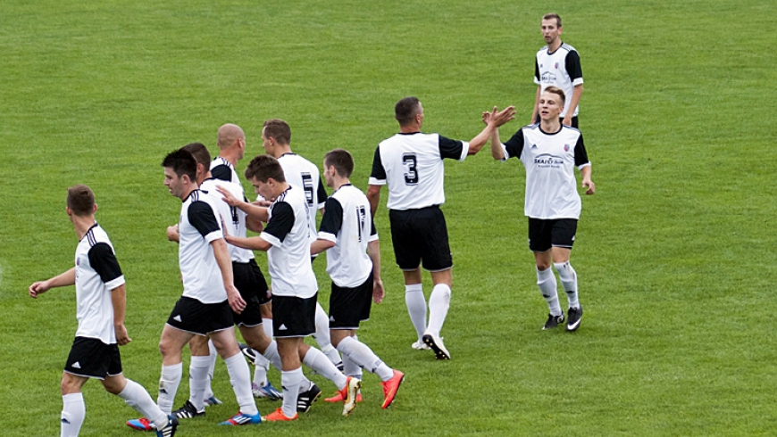
<path id="1" fill-rule="evenodd" d="M 370 319 L 372 272 L 363 284 L 353 288 L 332 283 L 330 329 L 359 329 L 359 322 Z"/>

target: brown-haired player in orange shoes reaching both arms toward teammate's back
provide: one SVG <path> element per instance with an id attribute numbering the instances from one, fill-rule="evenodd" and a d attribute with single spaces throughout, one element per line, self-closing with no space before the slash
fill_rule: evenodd
<path id="1" fill-rule="evenodd" d="M 321 351 L 303 342 L 306 336 L 315 332 L 318 295 L 318 284 L 310 263 L 305 193 L 298 186 L 286 182 L 280 162 L 272 156 L 255 157 L 246 168 L 246 178 L 251 180 L 257 194 L 272 202 L 269 208 L 240 202 L 241 209 L 253 210 L 267 223 L 261 235 L 250 238 L 227 235 L 229 243 L 267 251 L 268 270 L 272 278 L 273 331 L 282 364 L 283 406 L 265 416 L 264 420 L 297 419 L 297 396 L 305 392 L 301 384 L 306 381 L 300 360 L 337 385 L 344 399 L 343 416 L 348 416 L 355 408 L 355 396 L 361 382 L 341 374 Z M 225 190 L 220 189 L 219 192 L 225 195 L 228 203 L 237 204 Z M 315 384 L 309 384 L 310 390 L 313 390 Z M 313 400 L 321 394 L 321 389 L 315 387 L 315 390 Z"/>

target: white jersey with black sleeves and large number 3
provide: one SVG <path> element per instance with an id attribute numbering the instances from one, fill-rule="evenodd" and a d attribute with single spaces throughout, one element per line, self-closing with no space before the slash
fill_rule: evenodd
<path id="1" fill-rule="evenodd" d="M 388 184 L 389 210 L 445 203 L 443 158 L 464 161 L 469 144 L 439 134 L 397 134 L 378 144 L 370 185 Z"/>

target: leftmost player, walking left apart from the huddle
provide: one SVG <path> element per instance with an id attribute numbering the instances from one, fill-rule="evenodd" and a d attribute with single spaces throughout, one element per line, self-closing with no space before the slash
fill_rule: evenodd
<path id="1" fill-rule="evenodd" d="M 79 237 L 76 265 L 46 281 L 29 285 L 29 295 L 33 298 L 54 287 L 76 286 L 79 327 L 63 372 L 60 435 L 79 435 L 87 412 L 81 387 L 89 378 L 99 379 L 105 391 L 150 417 L 158 430 L 157 436 L 175 435 L 178 419 L 164 413 L 146 389 L 125 378 L 121 371 L 119 345 L 132 341 L 124 326 L 127 292 L 113 244 L 95 220 L 95 194 L 88 186 L 71 186 L 65 211 Z"/>

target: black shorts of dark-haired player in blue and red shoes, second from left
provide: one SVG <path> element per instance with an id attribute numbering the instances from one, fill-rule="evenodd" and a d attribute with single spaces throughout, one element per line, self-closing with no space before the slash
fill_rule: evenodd
<path id="1" fill-rule="evenodd" d="M 205 335 L 223 331 L 234 325 L 232 308 L 227 301 L 203 303 L 190 297 L 181 296 L 175 302 L 167 324 L 192 334 Z"/>

